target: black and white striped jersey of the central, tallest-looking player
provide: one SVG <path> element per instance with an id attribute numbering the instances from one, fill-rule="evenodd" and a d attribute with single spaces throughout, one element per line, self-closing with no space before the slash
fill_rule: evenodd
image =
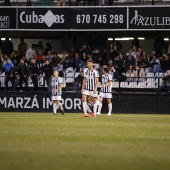
<path id="1" fill-rule="evenodd" d="M 83 71 L 84 77 L 86 78 L 86 85 L 84 87 L 85 90 L 94 91 L 96 86 L 96 78 L 99 78 L 99 73 L 96 69 L 88 70 L 84 69 Z"/>

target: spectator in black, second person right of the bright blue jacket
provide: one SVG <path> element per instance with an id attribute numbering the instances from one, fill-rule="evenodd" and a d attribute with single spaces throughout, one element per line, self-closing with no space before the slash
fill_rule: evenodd
<path id="1" fill-rule="evenodd" d="M 30 59 L 30 65 L 29 65 L 29 74 L 31 76 L 32 79 L 32 83 L 34 85 L 34 90 L 38 91 L 38 77 L 40 75 L 40 70 L 39 70 L 39 66 L 36 63 L 35 58 L 31 58 Z"/>

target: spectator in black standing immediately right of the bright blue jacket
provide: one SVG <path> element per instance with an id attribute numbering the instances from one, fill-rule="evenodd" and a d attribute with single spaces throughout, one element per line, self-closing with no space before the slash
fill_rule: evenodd
<path id="1" fill-rule="evenodd" d="M 28 87 L 28 76 L 29 76 L 29 71 L 28 71 L 28 66 L 25 63 L 24 59 L 20 59 L 20 63 L 18 64 L 18 71 L 16 74 L 16 78 L 18 80 L 18 84 L 20 86 L 20 90 L 23 91 L 23 83 L 25 83 L 25 91 L 27 91 Z"/>

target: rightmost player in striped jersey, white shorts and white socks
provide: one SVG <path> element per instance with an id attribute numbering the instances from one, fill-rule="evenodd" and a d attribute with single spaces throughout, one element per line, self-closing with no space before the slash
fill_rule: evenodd
<path id="1" fill-rule="evenodd" d="M 102 75 L 102 80 L 101 80 L 101 90 L 100 90 L 100 102 L 101 102 L 101 107 L 98 108 L 98 113 L 100 114 L 101 112 L 101 108 L 102 108 L 102 102 L 103 102 L 103 98 L 107 98 L 107 103 L 108 103 L 108 114 L 107 115 L 111 115 L 112 112 L 112 75 L 108 73 L 108 68 L 105 67 L 102 69 L 103 75 Z"/>

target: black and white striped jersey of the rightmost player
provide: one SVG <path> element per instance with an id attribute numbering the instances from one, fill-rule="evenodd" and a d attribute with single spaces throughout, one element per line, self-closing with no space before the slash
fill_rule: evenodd
<path id="1" fill-rule="evenodd" d="M 113 81 L 113 78 L 112 78 L 112 75 L 111 74 L 103 74 L 102 75 L 102 80 L 101 80 L 101 85 L 105 85 L 109 82 L 112 82 Z M 112 92 L 112 83 L 104 88 L 101 88 L 100 90 L 101 92 L 103 93 L 111 93 Z"/>

